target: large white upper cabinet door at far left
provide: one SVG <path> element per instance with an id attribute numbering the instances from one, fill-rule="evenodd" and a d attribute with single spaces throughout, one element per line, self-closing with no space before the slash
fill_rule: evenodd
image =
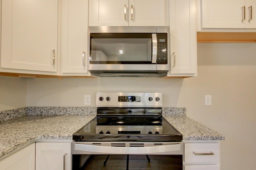
<path id="1" fill-rule="evenodd" d="M 1 67 L 56 72 L 57 29 L 58 0 L 2 0 Z"/>

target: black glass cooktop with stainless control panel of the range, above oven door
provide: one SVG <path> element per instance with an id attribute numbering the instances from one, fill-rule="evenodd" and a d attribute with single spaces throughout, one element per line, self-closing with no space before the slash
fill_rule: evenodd
<path id="1" fill-rule="evenodd" d="M 162 93 L 97 93 L 97 117 L 75 141 L 182 141 L 162 117 Z"/>

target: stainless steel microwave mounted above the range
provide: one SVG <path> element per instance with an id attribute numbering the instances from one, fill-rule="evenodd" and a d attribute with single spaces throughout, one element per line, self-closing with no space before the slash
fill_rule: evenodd
<path id="1" fill-rule="evenodd" d="M 163 77 L 170 70 L 169 27 L 89 27 L 92 75 Z"/>

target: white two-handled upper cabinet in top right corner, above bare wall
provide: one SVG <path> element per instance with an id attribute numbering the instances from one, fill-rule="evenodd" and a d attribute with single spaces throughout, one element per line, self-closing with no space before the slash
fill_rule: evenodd
<path id="1" fill-rule="evenodd" d="M 201 0 L 202 29 L 256 29 L 256 0 Z"/>

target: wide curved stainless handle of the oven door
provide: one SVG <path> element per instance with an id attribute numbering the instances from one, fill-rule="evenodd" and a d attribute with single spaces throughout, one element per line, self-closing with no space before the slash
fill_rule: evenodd
<path id="1" fill-rule="evenodd" d="M 163 152 L 180 151 L 180 143 L 151 147 L 106 147 L 86 144 L 75 144 L 74 150 L 85 151 L 86 154 L 161 154 Z"/>

